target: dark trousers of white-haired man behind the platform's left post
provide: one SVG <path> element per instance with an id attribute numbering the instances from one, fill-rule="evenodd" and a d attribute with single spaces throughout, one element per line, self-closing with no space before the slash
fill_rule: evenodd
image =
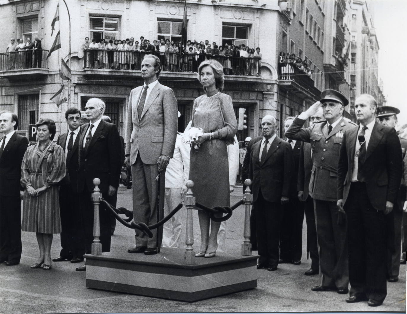
<path id="1" fill-rule="evenodd" d="M 82 226 L 82 239 L 81 239 L 81 252 L 83 254 L 89 254 L 92 250 L 93 243 L 93 218 L 94 218 L 94 204 L 92 202 L 93 191 L 85 189 L 82 193 L 79 193 L 79 199 L 81 200 L 81 226 Z M 102 193 L 102 197 L 110 203 L 110 196 L 107 193 Z M 100 237 L 102 244 L 102 252 L 110 252 L 110 215 L 109 209 L 102 202 L 99 204 L 99 223 L 100 223 Z"/>

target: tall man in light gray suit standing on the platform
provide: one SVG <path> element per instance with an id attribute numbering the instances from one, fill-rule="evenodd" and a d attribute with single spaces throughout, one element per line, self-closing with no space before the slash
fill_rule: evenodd
<path id="1" fill-rule="evenodd" d="M 150 225 L 159 220 L 157 213 L 158 183 L 164 199 L 164 175 L 173 157 L 177 138 L 177 99 L 171 88 L 158 82 L 160 60 L 145 55 L 141 63 L 144 85 L 130 92 L 126 126 L 126 164 L 133 176 L 133 212 L 135 222 Z M 161 202 L 160 202 L 161 203 Z M 162 227 L 151 230 L 152 238 L 136 231 L 136 247 L 129 253 L 153 255 L 160 252 Z"/>

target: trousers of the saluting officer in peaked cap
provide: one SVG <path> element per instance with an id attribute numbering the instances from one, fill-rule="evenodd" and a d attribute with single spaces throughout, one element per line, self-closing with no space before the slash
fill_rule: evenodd
<path id="1" fill-rule="evenodd" d="M 319 248 L 319 280 L 328 287 L 346 287 L 349 283 L 346 220 L 338 224 L 335 201 L 314 199 Z"/>

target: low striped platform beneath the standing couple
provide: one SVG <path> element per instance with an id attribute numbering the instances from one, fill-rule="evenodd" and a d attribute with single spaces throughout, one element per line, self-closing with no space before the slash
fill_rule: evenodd
<path id="1" fill-rule="evenodd" d="M 257 255 L 217 252 L 184 263 L 185 249 L 161 248 L 157 255 L 113 250 L 85 255 L 86 287 L 194 302 L 257 287 Z M 218 255 L 219 254 L 219 255 Z"/>

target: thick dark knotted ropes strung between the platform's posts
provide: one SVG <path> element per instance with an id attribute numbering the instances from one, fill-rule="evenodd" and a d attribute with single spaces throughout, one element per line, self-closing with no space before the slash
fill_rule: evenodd
<path id="1" fill-rule="evenodd" d="M 238 208 L 240 205 L 243 205 L 245 203 L 246 197 L 242 198 L 239 202 L 234 204 L 233 206 L 215 206 L 214 208 L 207 207 L 205 205 L 202 205 L 198 202 L 195 203 L 195 206 L 197 206 L 199 209 L 202 209 L 204 211 L 207 211 L 209 213 L 210 219 L 212 219 L 215 222 L 223 222 L 228 220 L 230 217 L 232 217 L 232 212 Z M 100 201 L 104 203 L 107 208 L 114 214 L 116 219 L 123 224 L 123 226 L 126 226 L 127 228 L 130 229 L 137 229 L 140 231 L 143 231 L 149 238 L 153 237 L 153 233 L 151 233 L 151 229 L 156 229 L 163 224 L 165 224 L 168 220 L 173 217 L 181 208 L 182 208 L 182 203 L 179 203 L 172 211 L 169 213 L 166 217 L 164 217 L 162 220 L 159 222 L 152 224 L 151 226 L 147 226 L 144 224 L 144 222 L 139 222 L 136 223 L 133 220 L 133 211 L 129 211 L 128 209 L 125 209 L 124 207 L 119 207 L 115 208 L 109 202 L 107 202 L 104 198 L 100 197 Z M 223 213 L 226 214 L 223 217 L 216 217 L 215 214 L 218 213 Z M 123 219 L 122 217 L 119 216 L 121 215 L 126 215 L 127 219 Z"/>

